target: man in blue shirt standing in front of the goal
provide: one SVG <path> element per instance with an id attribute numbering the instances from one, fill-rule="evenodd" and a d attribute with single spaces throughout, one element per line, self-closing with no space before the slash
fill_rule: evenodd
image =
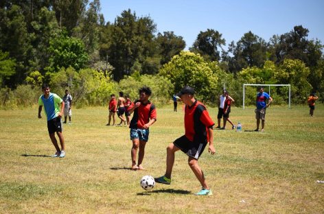
<path id="1" fill-rule="evenodd" d="M 266 100 L 268 101 L 268 104 L 266 103 Z M 264 92 L 264 88 L 261 87 L 259 88 L 259 93 L 257 93 L 257 99 L 256 99 L 256 104 L 257 104 L 257 109 L 255 109 L 255 119 L 257 119 L 257 129 L 255 132 L 259 132 L 259 125 L 260 125 L 260 119 L 262 121 L 262 129 L 261 131 L 264 131 L 264 123 L 266 119 L 266 108 L 270 105 L 270 103 L 273 102 L 273 98 L 268 95 L 268 93 Z"/>

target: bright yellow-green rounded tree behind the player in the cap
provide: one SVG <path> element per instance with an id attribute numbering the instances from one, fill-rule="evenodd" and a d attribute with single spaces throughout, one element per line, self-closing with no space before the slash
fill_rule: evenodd
<path id="1" fill-rule="evenodd" d="M 164 64 L 160 75 L 171 80 L 175 91 L 180 91 L 185 85 L 194 87 L 197 96 L 204 101 L 212 99 L 218 81 L 209 64 L 199 54 L 189 51 L 181 51 Z"/>

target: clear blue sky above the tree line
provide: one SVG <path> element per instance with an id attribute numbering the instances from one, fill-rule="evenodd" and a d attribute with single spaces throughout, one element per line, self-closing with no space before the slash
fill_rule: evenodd
<path id="1" fill-rule="evenodd" d="M 323 0 L 102 0 L 105 21 L 114 22 L 128 8 L 136 16 L 150 16 L 157 32 L 183 36 L 186 49 L 200 31 L 214 29 L 226 43 L 251 30 L 268 42 L 274 34 L 290 32 L 295 25 L 309 29 L 308 39 L 324 44 Z"/>

